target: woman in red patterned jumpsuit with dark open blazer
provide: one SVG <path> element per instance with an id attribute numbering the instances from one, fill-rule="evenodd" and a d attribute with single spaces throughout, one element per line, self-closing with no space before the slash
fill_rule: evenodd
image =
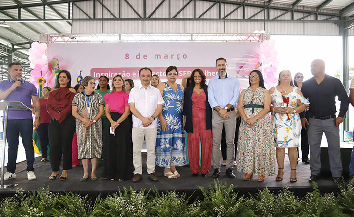
<path id="1" fill-rule="evenodd" d="M 191 86 L 184 91 L 184 129 L 188 139 L 189 165 L 193 176 L 199 173 L 199 138 L 201 142 L 201 175 L 210 172 L 213 133 L 211 130 L 212 109 L 208 102 L 208 86 L 201 69 L 193 70 Z"/>

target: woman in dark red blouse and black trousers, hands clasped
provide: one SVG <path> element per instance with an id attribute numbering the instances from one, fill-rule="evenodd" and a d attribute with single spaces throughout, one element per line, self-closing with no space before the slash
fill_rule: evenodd
<path id="1" fill-rule="evenodd" d="M 67 70 L 61 70 L 57 76 L 57 84 L 50 91 L 47 111 L 49 123 L 49 158 L 54 180 L 59 174 L 59 164 L 63 153 L 63 172 L 59 180 L 66 180 L 68 170 L 72 168 L 72 138 L 75 131 L 75 119 L 71 115 L 71 103 L 76 91 L 71 88 L 71 75 Z"/>

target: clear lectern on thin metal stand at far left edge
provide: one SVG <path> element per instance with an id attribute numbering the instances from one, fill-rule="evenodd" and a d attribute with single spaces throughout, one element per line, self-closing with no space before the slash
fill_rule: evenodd
<path id="1" fill-rule="evenodd" d="M 5 110 L 0 189 L 10 189 L 18 186 L 18 184 L 4 185 L 7 118 L 9 116 L 10 110 L 11 111 L 25 111 L 25 110 L 31 111 L 31 109 L 25 106 L 22 102 L 0 102 L 0 110 Z"/>

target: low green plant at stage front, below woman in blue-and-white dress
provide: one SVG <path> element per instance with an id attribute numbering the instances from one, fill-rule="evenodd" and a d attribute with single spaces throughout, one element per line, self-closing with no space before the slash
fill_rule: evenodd
<path id="1" fill-rule="evenodd" d="M 188 204 L 190 197 L 186 194 L 179 194 L 175 191 L 160 194 L 154 190 L 155 198 L 152 209 L 152 216 L 158 217 L 197 217 L 200 215 L 200 201 L 195 200 Z"/>

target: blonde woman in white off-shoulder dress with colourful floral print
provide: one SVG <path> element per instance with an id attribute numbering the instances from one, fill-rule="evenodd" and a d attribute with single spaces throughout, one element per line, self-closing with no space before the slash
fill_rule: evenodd
<path id="1" fill-rule="evenodd" d="M 299 113 L 306 109 L 309 102 L 299 88 L 292 83 L 289 70 L 279 73 L 278 86 L 269 90 L 272 98 L 271 121 L 274 129 L 278 175 L 276 181 L 282 181 L 284 175 L 285 148 L 288 148 L 291 166 L 290 181 L 296 182 L 297 150 L 301 133 Z"/>

